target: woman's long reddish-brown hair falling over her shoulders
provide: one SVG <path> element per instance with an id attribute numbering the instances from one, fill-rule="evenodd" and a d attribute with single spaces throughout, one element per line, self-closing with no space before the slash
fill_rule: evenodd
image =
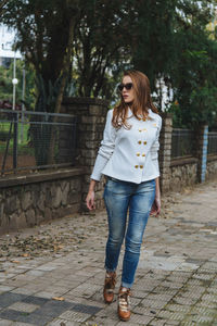
<path id="1" fill-rule="evenodd" d="M 135 99 L 132 103 L 125 103 L 123 96 L 120 96 L 119 104 L 114 108 L 112 124 L 116 128 L 124 126 L 129 129 L 130 126 L 127 123 L 128 108 L 137 118 L 139 118 L 138 112 L 142 112 L 143 117 L 148 117 L 149 109 L 154 113 L 158 113 L 158 111 L 152 102 L 150 82 L 146 75 L 138 71 L 126 71 L 124 76 L 129 76 L 132 79 Z"/>

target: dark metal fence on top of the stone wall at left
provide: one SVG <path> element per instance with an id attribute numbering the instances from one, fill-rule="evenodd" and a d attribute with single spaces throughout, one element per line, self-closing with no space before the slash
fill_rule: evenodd
<path id="1" fill-rule="evenodd" d="M 69 114 L 0 109 L 1 175 L 73 165 L 75 137 Z"/>

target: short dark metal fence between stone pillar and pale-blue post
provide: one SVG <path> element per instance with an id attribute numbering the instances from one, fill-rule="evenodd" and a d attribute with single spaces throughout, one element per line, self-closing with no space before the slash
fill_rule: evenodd
<path id="1" fill-rule="evenodd" d="M 171 159 L 194 155 L 194 131 L 174 128 L 171 134 Z"/>

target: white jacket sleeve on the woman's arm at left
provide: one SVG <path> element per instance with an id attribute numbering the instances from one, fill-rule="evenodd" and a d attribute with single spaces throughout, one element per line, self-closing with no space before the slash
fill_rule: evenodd
<path id="1" fill-rule="evenodd" d="M 91 179 L 97 181 L 101 179 L 102 171 L 105 167 L 110 158 L 112 156 L 112 153 L 114 152 L 115 148 L 116 129 L 112 125 L 112 117 L 113 110 L 108 110 L 103 133 L 103 140 L 101 141 L 94 167 L 90 176 Z"/>

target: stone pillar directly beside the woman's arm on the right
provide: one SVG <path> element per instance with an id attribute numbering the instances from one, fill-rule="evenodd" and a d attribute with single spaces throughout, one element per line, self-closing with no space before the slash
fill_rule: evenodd
<path id="1" fill-rule="evenodd" d="M 161 190 L 169 190 L 170 184 L 170 161 L 171 161 L 171 133 L 173 133 L 173 114 L 162 112 L 162 131 L 159 135 L 159 171 L 161 171 Z"/>

